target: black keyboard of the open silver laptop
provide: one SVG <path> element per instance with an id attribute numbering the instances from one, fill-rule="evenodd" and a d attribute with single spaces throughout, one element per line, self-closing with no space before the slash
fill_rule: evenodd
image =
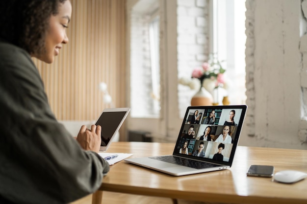
<path id="1" fill-rule="evenodd" d="M 181 166 L 187 166 L 187 167 L 191 167 L 191 168 L 195 168 L 195 169 L 205 169 L 205 168 L 220 166 L 220 165 L 196 161 L 196 160 L 192 160 L 192 159 L 174 157 L 172 155 L 150 157 L 150 158 L 160 160 L 160 161 L 166 161 L 166 162 L 169 162 L 169 163 L 178 164 L 178 165 L 181 165 Z"/>

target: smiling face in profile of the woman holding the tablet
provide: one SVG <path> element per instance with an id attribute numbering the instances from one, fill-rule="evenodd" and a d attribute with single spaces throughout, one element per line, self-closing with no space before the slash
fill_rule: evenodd
<path id="1" fill-rule="evenodd" d="M 68 43 L 66 28 L 71 15 L 71 2 L 66 0 L 64 3 L 59 3 L 58 13 L 55 16 L 51 15 L 49 20 L 49 28 L 45 36 L 45 52 L 34 57 L 49 64 L 54 61 L 54 56 L 59 54 L 62 44 Z"/>

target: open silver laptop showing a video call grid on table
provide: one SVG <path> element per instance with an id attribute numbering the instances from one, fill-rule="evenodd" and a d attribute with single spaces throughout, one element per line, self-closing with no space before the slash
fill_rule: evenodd
<path id="1" fill-rule="evenodd" d="M 126 162 L 173 176 L 231 167 L 247 106 L 190 106 L 173 155 L 131 158 Z"/>

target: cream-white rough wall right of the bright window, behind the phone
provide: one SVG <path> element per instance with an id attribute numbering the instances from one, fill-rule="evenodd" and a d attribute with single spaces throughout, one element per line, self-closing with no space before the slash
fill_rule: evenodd
<path id="1" fill-rule="evenodd" d="M 249 109 L 239 145 L 307 149 L 300 132 L 305 115 L 300 41 L 306 30 L 301 1 L 247 0 L 246 6 Z"/>

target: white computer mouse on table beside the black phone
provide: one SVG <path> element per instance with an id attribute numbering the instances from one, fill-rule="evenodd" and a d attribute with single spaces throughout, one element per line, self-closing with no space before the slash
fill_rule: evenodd
<path id="1" fill-rule="evenodd" d="M 295 170 L 284 170 L 276 172 L 274 175 L 274 181 L 283 183 L 294 183 L 301 181 L 307 177 L 307 173 Z"/>

